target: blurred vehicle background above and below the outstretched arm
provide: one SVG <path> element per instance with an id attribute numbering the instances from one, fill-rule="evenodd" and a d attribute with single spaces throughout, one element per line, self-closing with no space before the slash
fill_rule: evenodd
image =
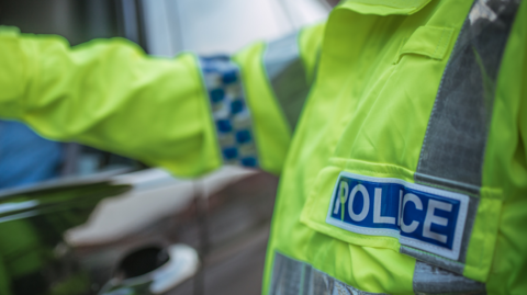
<path id="1" fill-rule="evenodd" d="M 71 45 L 232 54 L 326 18 L 323 0 L 0 0 L 0 24 Z M 277 177 L 183 180 L 0 121 L 0 295 L 260 294 Z"/>

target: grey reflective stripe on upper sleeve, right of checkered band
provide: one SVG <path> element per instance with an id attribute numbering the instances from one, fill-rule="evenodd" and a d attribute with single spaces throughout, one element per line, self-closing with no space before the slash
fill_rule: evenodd
<path id="1" fill-rule="evenodd" d="M 299 33 L 267 45 L 264 67 L 291 129 L 294 131 L 310 92 L 299 48 Z"/>

